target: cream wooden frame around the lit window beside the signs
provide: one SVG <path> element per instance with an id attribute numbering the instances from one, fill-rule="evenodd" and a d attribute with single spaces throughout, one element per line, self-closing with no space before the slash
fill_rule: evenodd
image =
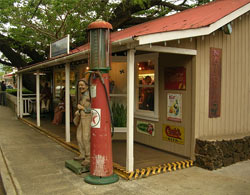
<path id="1" fill-rule="evenodd" d="M 159 76 L 158 76 L 158 58 L 159 53 L 141 54 L 135 56 L 135 105 L 134 116 L 135 118 L 159 121 Z M 152 60 L 154 63 L 154 111 L 139 109 L 139 79 L 137 63 L 140 61 Z"/>

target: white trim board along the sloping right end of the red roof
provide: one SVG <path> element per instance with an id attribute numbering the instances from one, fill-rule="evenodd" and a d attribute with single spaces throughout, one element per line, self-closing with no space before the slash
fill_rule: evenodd
<path id="1" fill-rule="evenodd" d="M 247 13 L 249 10 L 250 10 L 250 3 L 239 8 L 238 10 L 232 12 L 231 14 L 223 17 L 222 19 L 218 20 L 217 22 L 207 27 L 141 35 L 135 37 L 135 39 L 139 41 L 139 45 L 145 45 L 149 43 L 157 43 L 162 41 L 171 41 L 177 39 L 185 39 L 185 38 L 209 35 L 210 33 L 216 31 L 217 29 L 223 27 L 224 25 L 238 18 L 239 16 Z"/>

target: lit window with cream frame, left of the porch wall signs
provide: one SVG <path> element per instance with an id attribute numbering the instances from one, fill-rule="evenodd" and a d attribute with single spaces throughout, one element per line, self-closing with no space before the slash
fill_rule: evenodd
<path id="1" fill-rule="evenodd" d="M 135 75 L 136 117 L 158 120 L 158 55 L 136 56 Z"/>

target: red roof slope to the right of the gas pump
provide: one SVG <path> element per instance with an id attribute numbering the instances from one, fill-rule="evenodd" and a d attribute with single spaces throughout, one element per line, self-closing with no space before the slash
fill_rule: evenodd
<path id="1" fill-rule="evenodd" d="M 111 40 L 117 41 L 134 36 L 209 26 L 248 3 L 250 3 L 250 0 L 217 0 L 171 16 L 165 16 L 114 32 L 111 35 Z"/>

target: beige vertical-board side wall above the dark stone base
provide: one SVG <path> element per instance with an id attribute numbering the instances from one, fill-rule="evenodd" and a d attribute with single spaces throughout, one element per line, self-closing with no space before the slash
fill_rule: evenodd
<path id="1" fill-rule="evenodd" d="M 221 30 L 197 38 L 195 137 L 250 133 L 250 14 L 232 22 L 232 34 Z M 221 116 L 208 118 L 210 47 L 222 49 Z"/>

